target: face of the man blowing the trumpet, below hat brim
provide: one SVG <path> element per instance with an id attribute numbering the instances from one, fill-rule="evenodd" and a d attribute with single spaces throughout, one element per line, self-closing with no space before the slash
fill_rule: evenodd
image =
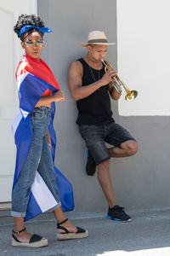
<path id="1" fill-rule="evenodd" d="M 107 52 L 107 45 L 88 45 L 88 53 L 94 61 L 101 61 L 105 59 Z"/>

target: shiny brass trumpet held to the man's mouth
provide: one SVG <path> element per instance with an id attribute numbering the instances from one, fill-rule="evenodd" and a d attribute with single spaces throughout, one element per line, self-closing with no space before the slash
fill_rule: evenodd
<path id="1" fill-rule="evenodd" d="M 103 64 L 105 65 L 105 72 L 113 68 L 111 64 L 107 64 L 104 60 L 101 60 Z M 113 81 L 113 86 L 115 89 L 118 91 L 118 93 L 121 95 L 122 94 L 122 87 L 124 90 L 126 90 L 127 94 L 125 96 L 125 99 L 127 102 L 133 101 L 137 96 L 138 96 L 138 91 L 137 90 L 129 90 L 127 88 L 127 85 L 122 82 L 122 79 L 120 79 L 117 75 L 113 76 L 112 79 Z"/>

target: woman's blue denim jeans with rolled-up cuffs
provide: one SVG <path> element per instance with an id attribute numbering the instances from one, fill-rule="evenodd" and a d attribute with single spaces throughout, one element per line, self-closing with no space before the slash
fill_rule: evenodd
<path id="1" fill-rule="evenodd" d="M 51 116 L 51 108 L 42 106 L 34 108 L 30 113 L 32 125 L 32 143 L 26 161 L 20 171 L 20 175 L 14 185 L 12 192 L 13 217 L 25 217 L 26 207 L 29 200 L 31 185 L 34 182 L 36 171 L 39 172 L 48 189 L 59 203 L 59 193 L 56 188 L 56 175 L 54 163 L 47 139 L 48 123 Z"/>

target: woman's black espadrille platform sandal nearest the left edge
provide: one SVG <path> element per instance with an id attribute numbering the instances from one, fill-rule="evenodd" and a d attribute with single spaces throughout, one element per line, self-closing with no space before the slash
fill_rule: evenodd
<path id="1" fill-rule="evenodd" d="M 36 234 L 31 236 L 31 239 L 29 242 L 22 242 L 19 241 L 14 234 L 20 234 L 21 232 L 25 231 L 25 229 L 20 231 L 14 231 L 12 232 L 12 246 L 13 247 L 30 247 L 30 248 L 37 248 L 37 247 L 45 247 L 48 245 L 48 240 L 45 239 L 42 236 L 38 236 Z"/>

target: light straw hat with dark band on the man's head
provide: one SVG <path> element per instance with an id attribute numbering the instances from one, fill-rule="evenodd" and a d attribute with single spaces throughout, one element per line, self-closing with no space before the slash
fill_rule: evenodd
<path id="1" fill-rule="evenodd" d="M 87 46 L 88 44 L 102 44 L 111 45 L 115 43 L 108 43 L 105 32 L 103 31 L 92 31 L 88 34 L 88 43 L 81 44 L 82 46 Z"/>

